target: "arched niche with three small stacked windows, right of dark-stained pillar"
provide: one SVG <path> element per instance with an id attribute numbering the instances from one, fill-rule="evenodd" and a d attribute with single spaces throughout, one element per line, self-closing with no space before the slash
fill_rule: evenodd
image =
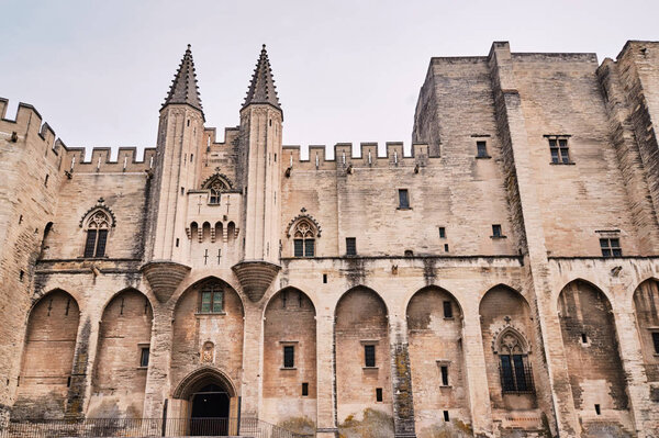
<path id="1" fill-rule="evenodd" d="M 457 300 L 444 289 L 424 288 L 410 300 L 406 319 L 416 430 L 449 428 L 443 411 L 470 424 L 462 312 Z"/>

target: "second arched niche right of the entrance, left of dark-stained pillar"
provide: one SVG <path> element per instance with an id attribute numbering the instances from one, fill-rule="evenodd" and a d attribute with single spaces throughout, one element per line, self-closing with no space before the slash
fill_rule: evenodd
<path id="1" fill-rule="evenodd" d="M 380 295 L 357 287 L 340 297 L 335 310 L 335 345 L 339 425 L 365 418 L 368 409 L 389 418 L 393 413 L 389 321 Z M 369 356 L 375 360 L 369 362 Z"/>

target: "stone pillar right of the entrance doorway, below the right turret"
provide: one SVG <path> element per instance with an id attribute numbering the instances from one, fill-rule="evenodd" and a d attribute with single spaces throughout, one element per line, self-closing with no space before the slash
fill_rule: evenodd
<path id="1" fill-rule="evenodd" d="M 245 341 L 243 344 L 243 382 L 241 415 L 258 418 L 263 384 L 263 308 L 245 301 Z"/>

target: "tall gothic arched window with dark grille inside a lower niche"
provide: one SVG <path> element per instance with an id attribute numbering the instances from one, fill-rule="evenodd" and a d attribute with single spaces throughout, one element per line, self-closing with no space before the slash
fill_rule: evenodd
<path id="1" fill-rule="evenodd" d="M 533 372 L 522 335 L 512 329 L 505 330 L 499 337 L 498 353 L 503 393 L 534 393 Z"/>

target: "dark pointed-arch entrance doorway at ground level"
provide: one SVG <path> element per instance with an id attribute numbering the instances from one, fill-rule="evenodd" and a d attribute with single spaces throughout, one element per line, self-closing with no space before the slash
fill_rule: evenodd
<path id="1" fill-rule="evenodd" d="M 212 367 L 193 371 L 178 384 L 169 412 L 169 418 L 182 419 L 172 423 L 180 429 L 176 431 L 182 435 L 237 434 L 238 397 L 235 386 L 227 375 Z"/>

